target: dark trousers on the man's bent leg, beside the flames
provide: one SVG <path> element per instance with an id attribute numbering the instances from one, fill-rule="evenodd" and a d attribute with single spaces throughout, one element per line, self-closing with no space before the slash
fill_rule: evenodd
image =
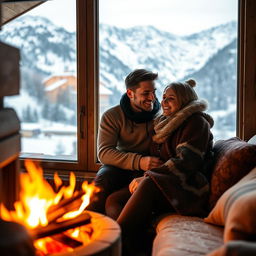
<path id="1" fill-rule="evenodd" d="M 144 174 L 143 171 L 124 170 L 112 165 L 103 165 L 96 174 L 94 183 L 101 191 L 95 195 L 87 210 L 105 213 L 105 202 L 113 192 L 129 185 L 136 177 Z"/>

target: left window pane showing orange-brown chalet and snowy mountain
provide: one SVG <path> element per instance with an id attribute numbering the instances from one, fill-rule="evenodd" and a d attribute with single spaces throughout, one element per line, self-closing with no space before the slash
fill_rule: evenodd
<path id="1" fill-rule="evenodd" d="M 47 1 L 2 27 L 21 50 L 21 156 L 77 160 L 76 0 Z"/>

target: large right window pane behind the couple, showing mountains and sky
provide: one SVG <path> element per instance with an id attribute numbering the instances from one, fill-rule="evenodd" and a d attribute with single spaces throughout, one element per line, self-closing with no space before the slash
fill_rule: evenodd
<path id="1" fill-rule="evenodd" d="M 236 135 L 238 0 L 100 0 L 100 115 L 118 104 L 125 76 L 159 73 L 158 97 L 194 78 L 215 140 Z M 99 116 L 100 117 L 100 116 Z"/>

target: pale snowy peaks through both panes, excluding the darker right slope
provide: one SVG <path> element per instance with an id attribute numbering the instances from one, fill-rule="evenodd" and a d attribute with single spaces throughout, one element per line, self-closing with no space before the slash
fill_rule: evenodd
<path id="1" fill-rule="evenodd" d="M 100 25 L 100 80 L 124 91 L 123 80 L 133 69 L 159 73 L 161 85 L 194 73 L 237 37 L 230 22 L 189 36 L 177 36 L 152 26 L 122 29 Z M 46 18 L 24 16 L 4 26 L 0 39 L 22 50 L 22 66 L 40 73 L 75 71 L 76 35 Z"/>

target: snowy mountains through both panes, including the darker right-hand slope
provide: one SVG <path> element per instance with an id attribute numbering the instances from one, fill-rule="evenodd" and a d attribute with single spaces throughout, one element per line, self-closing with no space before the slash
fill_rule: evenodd
<path id="1" fill-rule="evenodd" d="M 3 26 L 0 39 L 21 49 L 22 88 L 27 97 L 42 101 L 40 81 L 52 74 L 76 72 L 76 34 L 46 18 L 15 19 Z M 194 77 L 210 111 L 227 110 L 236 102 L 236 43 L 236 22 L 188 36 L 152 26 L 123 29 L 100 24 L 100 82 L 112 91 L 111 104 L 116 104 L 125 89 L 124 78 L 135 68 L 158 72 L 159 92 L 171 81 Z M 234 110 L 231 119 L 235 120 Z"/>

